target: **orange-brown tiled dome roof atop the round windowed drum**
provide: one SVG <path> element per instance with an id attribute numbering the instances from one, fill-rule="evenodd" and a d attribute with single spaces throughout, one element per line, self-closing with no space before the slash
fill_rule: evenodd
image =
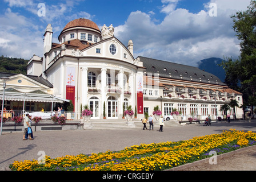
<path id="1" fill-rule="evenodd" d="M 99 27 L 97 26 L 96 23 L 94 23 L 93 21 L 89 20 L 89 19 L 85 19 L 85 18 L 78 18 L 78 19 L 74 19 L 71 22 L 67 23 L 66 26 L 63 28 L 62 31 L 66 30 L 67 28 L 72 28 L 72 27 L 89 27 L 89 28 L 93 28 L 95 30 L 99 30 Z"/>

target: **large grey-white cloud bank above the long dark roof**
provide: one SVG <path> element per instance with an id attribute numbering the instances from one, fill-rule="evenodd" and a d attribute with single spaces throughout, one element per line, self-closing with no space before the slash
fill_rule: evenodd
<path id="1" fill-rule="evenodd" d="M 162 1 L 167 5 L 177 2 Z M 132 12 L 125 24 L 115 27 L 115 36 L 124 44 L 133 40 L 135 57 L 140 55 L 196 66 L 199 60 L 209 57 L 239 56 L 230 15 L 246 10 L 250 0 L 212 0 L 205 6 L 209 7 L 210 3 L 217 4 L 217 17 L 211 17 L 207 8 L 198 14 L 176 9 L 156 24 L 150 14 Z"/>

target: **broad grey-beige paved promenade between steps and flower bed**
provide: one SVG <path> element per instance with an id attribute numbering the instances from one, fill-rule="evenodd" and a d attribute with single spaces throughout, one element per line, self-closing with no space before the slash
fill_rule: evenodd
<path id="1" fill-rule="evenodd" d="M 229 129 L 256 132 L 256 121 L 212 123 L 211 126 L 192 124 L 182 127 L 163 127 L 163 132 L 159 132 L 158 127 L 153 131 L 138 129 L 37 131 L 34 133 L 34 140 L 22 140 L 21 132 L 3 134 L 0 136 L 0 169 L 8 169 L 9 164 L 14 160 L 38 159 L 39 151 L 45 151 L 45 154 L 51 158 L 107 150 L 117 151 L 134 144 L 187 140 L 196 136 L 222 133 L 223 130 Z M 256 152 L 251 152 L 254 152 L 255 161 Z M 226 166 L 224 169 L 233 168 L 229 163 L 226 163 Z M 249 166 L 247 169 L 251 168 Z"/>

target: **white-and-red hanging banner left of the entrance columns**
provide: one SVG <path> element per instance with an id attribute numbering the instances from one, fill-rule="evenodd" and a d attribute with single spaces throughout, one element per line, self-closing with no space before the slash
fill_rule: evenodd
<path id="1" fill-rule="evenodd" d="M 75 68 L 66 68 L 66 99 L 71 100 L 75 110 Z"/>

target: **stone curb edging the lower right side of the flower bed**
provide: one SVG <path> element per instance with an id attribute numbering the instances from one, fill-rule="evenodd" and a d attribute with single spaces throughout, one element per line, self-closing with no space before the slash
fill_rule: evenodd
<path id="1" fill-rule="evenodd" d="M 247 151 L 247 150 L 250 150 L 250 149 L 255 149 L 256 150 L 256 145 L 245 147 L 245 148 L 240 148 L 240 149 L 235 150 L 235 151 L 231 151 L 231 152 L 227 152 L 225 154 L 217 155 L 217 158 L 218 159 L 226 158 L 227 156 L 238 154 L 240 152 L 244 152 L 244 151 Z M 209 159 L 210 158 L 206 158 L 206 159 L 195 161 L 193 163 L 183 164 L 182 166 L 174 167 L 174 168 L 171 168 L 171 169 L 166 169 L 165 171 L 181 171 L 181 170 L 189 168 L 189 167 L 194 167 L 194 166 L 197 166 L 199 164 L 207 163 L 207 162 L 209 162 Z"/>

